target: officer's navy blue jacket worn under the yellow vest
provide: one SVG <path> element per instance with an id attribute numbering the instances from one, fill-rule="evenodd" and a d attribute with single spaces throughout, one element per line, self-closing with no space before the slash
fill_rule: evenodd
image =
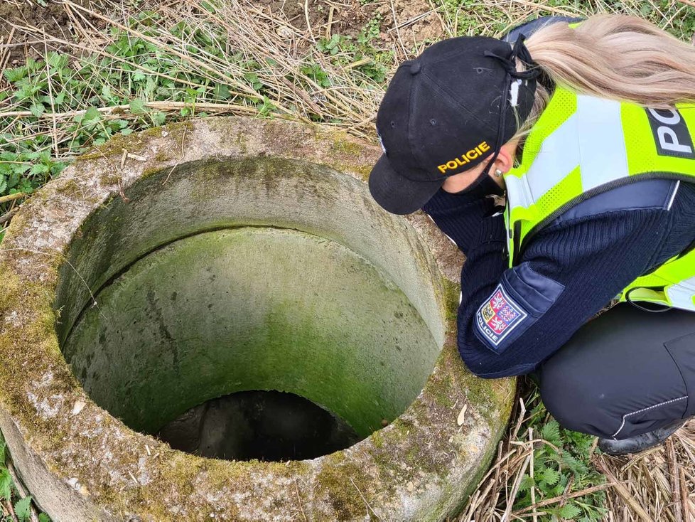
<path id="1" fill-rule="evenodd" d="M 502 209 L 485 197 L 492 193 L 502 191 L 488 177 L 461 193 L 440 190 L 424 207 L 466 255 L 458 350 L 481 377 L 533 371 L 627 284 L 695 243 L 695 184 L 637 181 L 556 218 L 509 268 Z M 499 289 L 520 315 L 495 346 L 476 322 Z"/>

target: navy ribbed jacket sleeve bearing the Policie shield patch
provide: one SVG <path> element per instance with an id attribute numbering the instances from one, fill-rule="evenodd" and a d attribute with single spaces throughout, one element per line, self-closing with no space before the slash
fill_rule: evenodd
<path id="1" fill-rule="evenodd" d="M 627 284 L 673 255 L 663 252 L 669 219 L 651 208 L 551 223 L 508 268 L 503 217 L 484 218 L 461 271 L 458 349 L 466 366 L 485 378 L 533 371 Z"/>

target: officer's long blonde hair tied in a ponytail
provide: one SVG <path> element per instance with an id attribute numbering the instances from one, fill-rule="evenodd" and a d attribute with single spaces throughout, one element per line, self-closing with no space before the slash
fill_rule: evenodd
<path id="1" fill-rule="evenodd" d="M 654 108 L 695 102 L 695 48 L 636 16 L 591 16 L 575 28 L 552 23 L 525 43 L 550 80 L 575 92 Z M 548 100 L 539 83 L 514 138 L 528 134 Z"/>

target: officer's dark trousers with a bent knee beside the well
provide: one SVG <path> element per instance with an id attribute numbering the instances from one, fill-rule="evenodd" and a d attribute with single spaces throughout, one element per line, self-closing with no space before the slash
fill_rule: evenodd
<path id="1" fill-rule="evenodd" d="M 538 376 L 546 408 L 569 430 L 621 440 L 695 415 L 695 312 L 618 304 Z"/>

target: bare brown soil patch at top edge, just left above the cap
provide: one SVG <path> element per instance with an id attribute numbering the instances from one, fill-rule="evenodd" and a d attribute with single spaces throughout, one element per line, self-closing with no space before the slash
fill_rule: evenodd
<path id="1" fill-rule="evenodd" d="M 370 1 L 362 5 L 360 0 L 308 0 L 306 9 L 302 0 L 259 0 L 258 4 L 300 31 L 307 30 L 308 15 L 315 37 L 325 36 L 330 8 L 333 18 L 330 33 L 357 36 L 374 18 L 380 19 L 379 39 L 384 48 L 393 44 L 405 52 L 411 52 L 426 40 L 443 36 L 443 28 L 431 4 L 426 0 Z M 379 43 L 375 43 L 379 47 Z"/>

